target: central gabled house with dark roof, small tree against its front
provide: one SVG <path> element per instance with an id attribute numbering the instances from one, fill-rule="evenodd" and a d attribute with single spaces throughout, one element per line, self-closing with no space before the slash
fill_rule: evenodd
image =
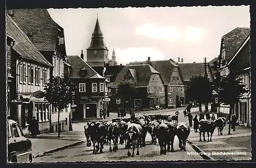
<path id="1" fill-rule="evenodd" d="M 165 107 L 164 85 L 160 73 L 151 65 L 125 65 L 116 77 L 113 92 L 124 80 L 134 81 L 138 96 L 129 100 L 125 100 L 123 97 L 115 97 L 110 101 L 112 110 L 121 106 L 135 109 Z"/>

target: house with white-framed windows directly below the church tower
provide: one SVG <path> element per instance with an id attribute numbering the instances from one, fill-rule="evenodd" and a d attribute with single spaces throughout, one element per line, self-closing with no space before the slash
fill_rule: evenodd
<path id="1" fill-rule="evenodd" d="M 72 114 L 73 121 L 86 118 L 100 118 L 100 109 L 107 108 L 104 97 L 106 96 L 105 77 L 98 74 L 86 61 L 77 55 L 68 56 L 71 65 L 68 77 L 79 88 L 76 95 L 76 108 Z"/>

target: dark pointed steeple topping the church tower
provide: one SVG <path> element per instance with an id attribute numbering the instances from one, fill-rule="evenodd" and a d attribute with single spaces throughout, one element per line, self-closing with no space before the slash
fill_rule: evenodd
<path id="1" fill-rule="evenodd" d="M 94 31 L 92 34 L 92 41 L 91 41 L 91 44 L 90 44 L 88 50 L 95 50 L 95 49 L 108 50 L 108 48 L 106 48 L 106 46 L 104 44 L 103 34 L 102 34 L 100 26 L 99 26 L 98 14 L 97 14 L 97 20 L 96 20 L 96 24 L 94 27 Z"/>

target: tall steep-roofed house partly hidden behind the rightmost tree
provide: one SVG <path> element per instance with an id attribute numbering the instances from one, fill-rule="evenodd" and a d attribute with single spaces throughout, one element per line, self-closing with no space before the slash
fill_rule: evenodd
<path id="1" fill-rule="evenodd" d="M 237 27 L 236 29 L 232 30 L 221 38 L 220 55 L 218 60 L 221 76 L 229 74 L 229 68 L 227 65 L 232 60 L 234 55 L 236 55 L 238 50 L 242 47 L 249 34 L 250 28 Z M 238 111 L 238 105 L 235 104 L 234 108 L 235 111 Z M 220 104 L 219 114 L 228 118 L 229 105 Z"/>

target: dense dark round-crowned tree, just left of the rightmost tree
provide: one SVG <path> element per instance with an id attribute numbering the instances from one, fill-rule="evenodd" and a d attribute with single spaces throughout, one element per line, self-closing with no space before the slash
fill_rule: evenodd
<path id="1" fill-rule="evenodd" d="M 196 100 L 199 110 L 202 111 L 202 103 L 211 102 L 212 85 L 209 78 L 201 75 L 191 77 L 187 83 L 187 98 L 190 101 Z"/>

